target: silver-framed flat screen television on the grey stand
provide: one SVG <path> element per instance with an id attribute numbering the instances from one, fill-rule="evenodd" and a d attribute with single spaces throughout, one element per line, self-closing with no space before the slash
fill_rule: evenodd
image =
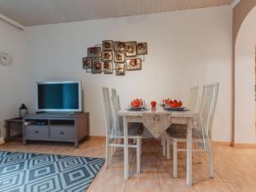
<path id="1" fill-rule="evenodd" d="M 82 112 L 79 81 L 37 83 L 37 112 Z"/>

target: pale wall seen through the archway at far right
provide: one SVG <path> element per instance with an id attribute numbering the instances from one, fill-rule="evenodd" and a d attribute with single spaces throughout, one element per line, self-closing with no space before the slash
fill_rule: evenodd
<path id="1" fill-rule="evenodd" d="M 243 21 L 236 38 L 235 143 L 255 143 L 256 7 Z"/>

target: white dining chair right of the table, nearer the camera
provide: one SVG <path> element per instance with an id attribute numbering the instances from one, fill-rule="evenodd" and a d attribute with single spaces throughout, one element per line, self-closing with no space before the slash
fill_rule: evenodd
<path id="1" fill-rule="evenodd" d="M 193 148 L 193 152 L 207 152 L 209 155 L 210 176 L 213 177 L 212 161 L 212 121 L 218 99 L 219 83 L 205 84 L 201 97 L 201 108 L 199 110 L 199 119 L 196 121 L 195 128 L 192 131 L 193 143 L 197 143 L 201 148 Z M 173 146 L 173 177 L 177 177 L 177 152 L 187 151 L 186 148 L 177 148 L 177 143 L 187 142 L 187 125 L 182 129 L 176 129 L 171 125 L 166 130 L 167 144 Z"/>

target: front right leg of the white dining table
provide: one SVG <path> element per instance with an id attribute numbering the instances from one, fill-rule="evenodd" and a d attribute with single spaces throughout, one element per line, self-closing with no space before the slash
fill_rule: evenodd
<path id="1" fill-rule="evenodd" d="M 192 119 L 188 119 L 187 132 L 187 184 L 192 185 Z"/>

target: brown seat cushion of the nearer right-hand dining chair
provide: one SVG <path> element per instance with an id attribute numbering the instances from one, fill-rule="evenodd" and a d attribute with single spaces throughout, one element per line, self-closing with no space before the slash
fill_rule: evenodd
<path id="1" fill-rule="evenodd" d="M 166 134 L 172 138 L 186 139 L 187 138 L 187 125 L 172 124 L 166 130 Z M 193 134 L 193 138 L 202 138 L 200 130 L 193 129 L 192 134 Z"/>

